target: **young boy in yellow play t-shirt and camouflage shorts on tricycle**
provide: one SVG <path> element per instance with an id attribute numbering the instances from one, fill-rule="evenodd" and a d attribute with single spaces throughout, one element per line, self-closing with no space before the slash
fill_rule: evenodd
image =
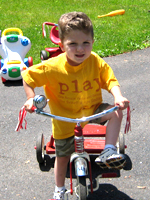
<path id="1" fill-rule="evenodd" d="M 126 161 L 123 155 L 117 154 L 115 145 L 122 110 L 128 107 L 129 101 L 122 96 L 119 83 L 109 65 L 91 52 L 94 33 L 87 15 L 82 12 L 64 14 L 59 19 L 58 28 L 61 40 L 59 45 L 64 53 L 22 73 L 27 95 L 24 107 L 32 112 L 34 88 L 44 86 L 52 114 L 80 118 L 114 106 L 102 103 L 101 89 L 107 90 L 120 109 L 99 120 L 99 123 L 108 121 L 108 124 L 105 149 L 95 162 L 102 168 L 121 169 Z M 75 124 L 52 120 L 52 127 L 56 145 L 54 198 L 63 199 L 67 164 L 70 154 L 74 152 Z"/>

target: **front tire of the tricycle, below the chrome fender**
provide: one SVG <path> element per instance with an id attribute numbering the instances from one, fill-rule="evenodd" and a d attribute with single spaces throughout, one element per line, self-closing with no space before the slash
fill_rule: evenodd
<path id="1" fill-rule="evenodd" d="M 77 193 L 80 200 L 87 199 L 86 176 L 77 176 Z"/>

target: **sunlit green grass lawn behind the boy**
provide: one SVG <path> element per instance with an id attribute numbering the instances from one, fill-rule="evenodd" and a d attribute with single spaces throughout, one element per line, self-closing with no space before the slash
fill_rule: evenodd
<path id="1" fill-rule="evenodd" d="M 125 14 L 97 18 L 119 9 L 125 9 Z M 57 23 L 63 13 L 82 11 L 93 22 L 93 51 L 105 57 L 150 46 L 149 10 L 149 0 L 1 0 L 0 29 L 20 28 L 32 42 L 27 56 L 32 56 L 36 64 L 40 62 L 40 51 L 54 46 L 48 35 L 42 37 L 42 23 Z"/>

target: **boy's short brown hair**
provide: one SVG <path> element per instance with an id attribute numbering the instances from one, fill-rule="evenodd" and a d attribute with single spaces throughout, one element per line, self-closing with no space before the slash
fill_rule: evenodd
<path id="1" fill-rule="evenodd" d="M 63 14 L 58 21 L 59 38 L 64 37 L 72 30 L 81 30 L 85 34 L 91 34 L 94 38 L 93 25 L 89 17 L 83 12 L 70 12 Z"/>

